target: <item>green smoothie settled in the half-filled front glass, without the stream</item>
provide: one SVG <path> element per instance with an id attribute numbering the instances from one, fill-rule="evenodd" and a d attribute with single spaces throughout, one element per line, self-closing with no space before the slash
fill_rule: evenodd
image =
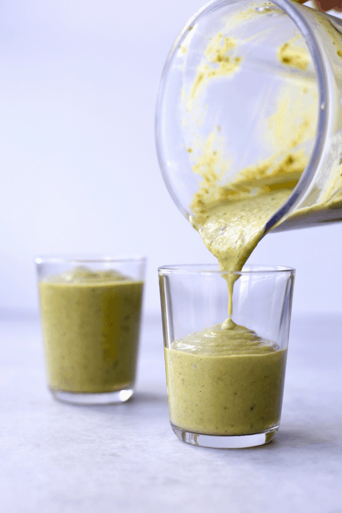
<path id="1" fill-rule="evenodd" d="M 232 321 L 165 348 L 171 423 L 206 435 L 251 435 L 279 424 L 286 349 Z"/>

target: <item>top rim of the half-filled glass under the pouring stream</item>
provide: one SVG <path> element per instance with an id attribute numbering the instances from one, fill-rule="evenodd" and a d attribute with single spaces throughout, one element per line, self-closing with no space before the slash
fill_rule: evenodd
<path id="1" fill-rule="evenodd" d="M 295 274 L 293 267 L 275 265 L 247 265 L 241 271 L 223 271 L 218 264 L 175 264 L 158 267 L 158 274 Z"/>

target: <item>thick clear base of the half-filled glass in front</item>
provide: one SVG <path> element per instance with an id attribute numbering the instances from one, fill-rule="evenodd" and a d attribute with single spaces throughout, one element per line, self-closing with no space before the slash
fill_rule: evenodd
<path id="1" fill-rule="evenodd" d="M 256 445 L 267 444 L 274 437 L 279 425 L 263 431 L 261 433 L 253 433 L 253 435 L 201 435 L 200 433 L 192 433 L 174 426 L 171 427 L 175 435 L 187 444 L 198 445 L 198 447 L 212 447 L 214 449 L 242 449 L 244 447 L 255 447 Z"/>

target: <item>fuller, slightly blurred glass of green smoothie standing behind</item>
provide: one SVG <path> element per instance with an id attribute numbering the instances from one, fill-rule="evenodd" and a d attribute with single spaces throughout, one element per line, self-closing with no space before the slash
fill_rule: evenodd
<path id="1" fill-rule="evenodd" d="M 127 401 L 134 389 L 145 259 L 37 257 L 49 389 L 61 401 Z"/>

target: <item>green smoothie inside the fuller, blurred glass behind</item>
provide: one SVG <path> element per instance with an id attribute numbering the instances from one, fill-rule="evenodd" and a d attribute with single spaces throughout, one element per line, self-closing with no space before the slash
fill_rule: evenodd
<path id="1" fill-rule="evenodd" d="M 48 385 L 110 392 L 133 385 L 143 282 L 78 267 L 39 282 Z"/>

